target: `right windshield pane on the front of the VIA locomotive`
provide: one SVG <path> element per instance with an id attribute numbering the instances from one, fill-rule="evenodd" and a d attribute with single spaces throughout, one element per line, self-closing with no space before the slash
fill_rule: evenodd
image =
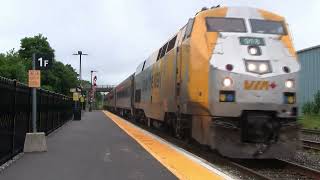
<path id="1" fill-rule="evenodd" d="M 285 35 L 286 29 L 282 21 L 266 21 L 250 19 L 253 33 Z"/>

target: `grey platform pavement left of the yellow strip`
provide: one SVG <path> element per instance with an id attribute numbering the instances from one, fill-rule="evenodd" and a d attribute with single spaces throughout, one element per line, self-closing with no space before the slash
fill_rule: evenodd
<path id="1" fill-rule="evenodd" d="M 0 179 L 177 179 L 100 111 L 68 122 L 47 144 L 48 152 L 25 154 Z"/>

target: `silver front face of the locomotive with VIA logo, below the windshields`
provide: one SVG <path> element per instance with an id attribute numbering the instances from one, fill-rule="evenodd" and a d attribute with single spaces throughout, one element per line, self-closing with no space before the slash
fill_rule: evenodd
<path id="1" fill-rule="evenodd" d="M 253 9 L 249 12 L 246 22 L 252 32 L 252 19 L 263 18 Z M 288 33 L 285 27 L 283 33 Z M 281 36 L 221 33 L 218 38 L 209 81 L 209 110 L 214 116 L 210 146 L 226 156 L 288 157 L 300 146 L 296 102 L 300 65 Z"/>

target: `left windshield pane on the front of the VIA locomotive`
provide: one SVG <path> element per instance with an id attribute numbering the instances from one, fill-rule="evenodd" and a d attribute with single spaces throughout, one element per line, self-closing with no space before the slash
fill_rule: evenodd
<path id="1" fill-rule="evenodd" d="M 247 32 L 243 19 L 238 18 L 216 18 L 206 19 L 208 32 Z"/>

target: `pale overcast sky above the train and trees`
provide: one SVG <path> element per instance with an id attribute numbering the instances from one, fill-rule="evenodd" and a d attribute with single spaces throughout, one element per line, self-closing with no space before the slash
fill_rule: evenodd
<path id="1" fill-rule="evenodd" d="M 319 0 L 0 0 L 0 52 L 20 39 L 48 37 L 56 58 L 83 78 L 97 70 L 98 84 L 116 84 L 177 32 L 202 7 L 251 6 L 286 17 L 297 50 L 320 44 Z"/>

